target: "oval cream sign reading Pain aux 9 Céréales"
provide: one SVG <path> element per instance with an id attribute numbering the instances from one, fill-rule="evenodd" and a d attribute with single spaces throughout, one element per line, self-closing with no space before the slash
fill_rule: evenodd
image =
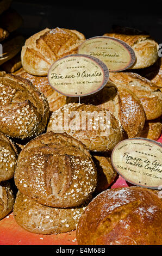
<path id="1" fill-rule="evenodd" d="M 101 60 L 86 54 L 71 54 L 54 62 L 48 81 L 54 90 L 71 97 L 93 94 L 107 84 L 109 70 Z"/>

